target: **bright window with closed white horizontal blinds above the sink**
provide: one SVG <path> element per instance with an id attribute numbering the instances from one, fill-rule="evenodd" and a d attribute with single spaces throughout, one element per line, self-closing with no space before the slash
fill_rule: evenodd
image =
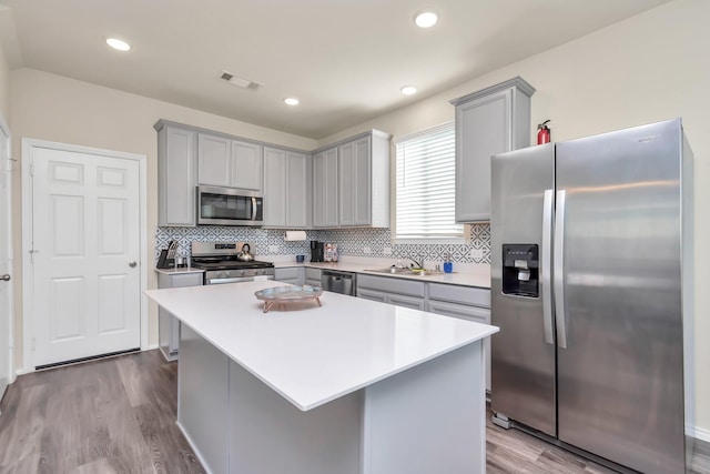
<path id="1" fill-rule="evenodd" d="M 396 142 L 395 239 L 463 239 L 455 222 L 454 123 Z"/>

